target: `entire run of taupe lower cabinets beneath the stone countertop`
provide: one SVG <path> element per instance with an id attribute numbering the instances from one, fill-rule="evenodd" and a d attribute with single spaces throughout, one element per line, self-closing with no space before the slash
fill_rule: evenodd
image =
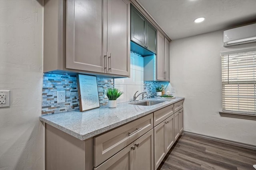
<path id="1" fill-rule="evenodd" d="M 84 141 L 45 124 L 46 170 L 156 170 L 182 134 L 183 103 Z"/>

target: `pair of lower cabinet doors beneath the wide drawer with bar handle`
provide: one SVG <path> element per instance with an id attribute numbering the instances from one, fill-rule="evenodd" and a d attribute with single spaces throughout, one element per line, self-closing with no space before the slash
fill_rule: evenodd
<path id="1" fill-rule="evenodd" d="M 94 170 L 153 170 L 153 135 L 152 129 Z"/>

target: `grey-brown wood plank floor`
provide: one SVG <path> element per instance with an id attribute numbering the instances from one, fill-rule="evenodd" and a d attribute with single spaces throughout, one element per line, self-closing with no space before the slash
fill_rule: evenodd
<path id="1" fill-rule="evenodd" d="M 256 150 L 183 135 L 158 170 L 255 170 Z"/>

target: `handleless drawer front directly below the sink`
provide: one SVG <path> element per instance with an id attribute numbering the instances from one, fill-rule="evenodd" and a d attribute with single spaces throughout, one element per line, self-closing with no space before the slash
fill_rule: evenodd
<path id="1" fill-rule="evenodd" d="M 154 112 L 154 127 L 174 113 L 173 104 Z"/>

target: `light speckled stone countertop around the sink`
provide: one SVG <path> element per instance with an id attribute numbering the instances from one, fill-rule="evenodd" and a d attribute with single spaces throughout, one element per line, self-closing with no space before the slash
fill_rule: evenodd
<path id="1" fill-rule="evenodd" d="M 75 138 L 86 140 L 183 99 L 183 97 L 176 97 L 172 100 L 150 98 L 147 100 L 162 100 L 165 102 L 153 106 L 139 106 L 129 104 L 131 102 L 124 102 L 118 103 L 116 108 L 112 109 L 108 106 L 100 106 L 100 108 L 85 112 L 75 110 L 42 115 L 39 119 Z"/>

